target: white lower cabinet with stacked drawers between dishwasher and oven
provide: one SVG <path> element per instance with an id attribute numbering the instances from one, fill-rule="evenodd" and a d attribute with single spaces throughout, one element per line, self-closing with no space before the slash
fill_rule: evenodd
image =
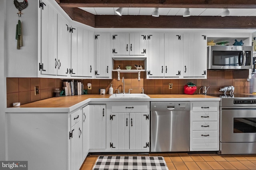
<path id="1" fill-rule="evenodd" d="M 219 103 L 191 102 L 190 151 L 219 150 Z"/>

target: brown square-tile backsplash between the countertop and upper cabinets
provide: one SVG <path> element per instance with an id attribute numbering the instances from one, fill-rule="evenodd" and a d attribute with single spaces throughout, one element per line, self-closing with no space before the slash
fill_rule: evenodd
<path id="1" fill-rule="evenodd" d="M 115 68 L 120 65 L 121 69 L 130 65 L 139 64 L 144 67 L 144 61 L 115 61 Z M 132 68 L 134 69 L 134 68 Z M 117 80 L 117 72 L 112 73 L 111 80 L 107 79 L 83 79 L 84 89 L 87 89 L 87 83 L 92 84 L 92 90 L 88 90 L 88 94 L 99 94 L 100 88 L 106 89 L 110 84 L 114 89 L 114 93 L 123 90 L 122 77 L 125 79 L 125 92 L 132 89 L 132 93 L 141 93 L 144 88 L 146 94 L 184 94 L 183 87 L 187 82 L 193 82 L 197 86 L 197 91 L 201 86 L 210 86 L 207 94 L 218 94 L 218 90 L 223 86 L 234 86 L 235 93 L 250 93 L 252 91 L 252 81 L 247 81 L 246 78 L 241 78 L 239 74 L 244 72 L 233 71 L 207 71 L 207 79 L 146 79 L 146 72 L 141 72 L 140 81 L 138 81 L 137 73 L 120 73 L 120 81 Z M 235 76 L 234 76 L 235 75 Z M 240 78 L 238 78 L 240 77 Z M 172 90 L 168 89 L 168 84 L 172 83 Z M 30 102 L 43 100 L 54 97 L 54 88 L 62 89 L 63 80 L 58 78 L 7 78 L 7 107 L 12 107 L 12 103 L 20 102 L 20 104 L 27 104 Z M 35 95 L 34 87 L 39 86 L 39 94 Z"/>

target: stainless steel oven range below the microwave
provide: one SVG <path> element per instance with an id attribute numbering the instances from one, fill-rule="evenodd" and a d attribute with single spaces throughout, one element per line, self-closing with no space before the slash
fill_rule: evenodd
<path id="1" fill-rule="evenodd" d="M 256 96 L 221 99 L 219 153 L 256 154 Z"/>

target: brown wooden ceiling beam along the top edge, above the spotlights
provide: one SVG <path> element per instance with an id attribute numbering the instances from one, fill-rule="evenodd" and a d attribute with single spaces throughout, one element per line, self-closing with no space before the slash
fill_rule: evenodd
<path id="1" fill-rule="evenodd" d="M 56 0 L 60 6 L 124 8 L 256 8 L 256 0 Z"/>

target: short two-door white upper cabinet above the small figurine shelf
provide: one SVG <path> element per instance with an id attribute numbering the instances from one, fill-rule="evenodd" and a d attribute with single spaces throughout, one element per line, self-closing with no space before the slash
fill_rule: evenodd
<path id="1" fill-rule="evenodd" d="M 113 33 L 112 55 L 146 55 L 147 36 L 143 33 Z"/>

